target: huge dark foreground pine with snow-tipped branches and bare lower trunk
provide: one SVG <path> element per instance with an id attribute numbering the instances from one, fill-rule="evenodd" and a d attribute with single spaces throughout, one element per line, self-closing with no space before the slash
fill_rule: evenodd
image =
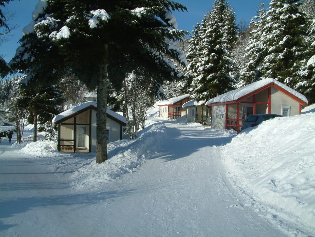
<path id="1" fill-rule="evenodd" d="M 38 9 L 33 14 L 34 41 L 42 41 L 45 47 L 36 50 L 49 55 L 56 47 L 58 55 L 46 58 L 55 65 L 54 70 L 67 66 L 88 89 L 97 87 L 96 162 L 104 162 L 107 75 L 118 87 L 135 66 L 145 68 L 161 82 L 182 76 L 170 59 L 185 64 L 185 56 L 173 42 L 186 32 L 177 30 L 171 11 L 186 7 L 170 0 L 90 0 L 89 4 L 83 0 L 48 0 Z"/>

